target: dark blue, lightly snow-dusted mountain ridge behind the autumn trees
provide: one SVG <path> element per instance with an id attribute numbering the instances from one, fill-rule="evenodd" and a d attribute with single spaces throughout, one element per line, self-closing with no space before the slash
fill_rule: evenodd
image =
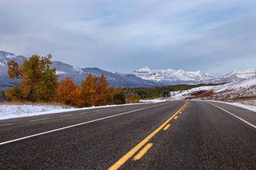
<path id="1" fill-rule="evenodd" d="M 13 53 L 0 51 L 0 88 L 10 88 L 16 84 L 19 84 L 19 80 L 10 80 L 8 75 L 8 66 L 7 62 L 14 60 L 17 63 L 22 63 L 24 61 L 24 56 L 16 55 Z M 65 79 L 67 76 L 71 76 L 77 84 L 82 82 L 82 79 L 85 80 L 86 76 L 89 73 L 92 75 L 101 76 L 102 73 L 105 75 L 106 79 L 110 83 L 109 86 L 114 87 L 156 87 L 162 86 L 158 82 L 151 80 L 141 79 L 133 74 L 114 74 L 109 71 L 101 70 L 96 67 L 94 68 L 85 68 L 81 69 L 79 67 L 68 65 L 67 63 L 53 61 L 51 67 L 56 68 L 56 74 L 60 75 L 59 80 Z"/>

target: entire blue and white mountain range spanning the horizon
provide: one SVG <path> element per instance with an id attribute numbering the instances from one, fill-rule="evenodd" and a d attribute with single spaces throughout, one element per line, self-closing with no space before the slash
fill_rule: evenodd
<path id="1" fill-rule="evenodd" d="M 7 62 L 14 60 L 17 63 L 22 63 L 24 58 L 27 57 L 0 51 L 0 88 L 10 88 L 15 83 L 19 84 L 19 80 L 9 79 Z M 71 76 L 77 84 L 80 84 L 82 79 L 85 79 L 89 73 L 96 76 L 100 76 L 103 73 L 110 83 L 109 86 L 114 87 L 156 87 L 174 84 L 224 83 L 256 77 L 256 69 L 238 69 L 221 78 L 216 78 L 211 74 L 201 73 L 200 71 L 154 70 L 149 67 L 133 71 L 131 74 L 117 71 L 112 73 L 96 67 L 81 69 L 59 61 L 53 61 L 52 67 L 55 67 L 56 73 L 60 75 L 59 80 Z"/>

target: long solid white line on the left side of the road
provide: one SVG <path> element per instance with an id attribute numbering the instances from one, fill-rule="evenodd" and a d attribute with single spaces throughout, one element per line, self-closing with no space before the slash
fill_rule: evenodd
<path id="1" fill-rule="evenodd" d="M 164 103 L 164 104 L 168 104 L 168 103 Z M 163 105 L 163 104 L 159 104 L 159 105 Z M 152 107 L 156 107 L 156 106 L 159 106 L 159 105 L 154 105 L 154 106 L 147 107 L 147 108 L 152 108 Z M 83 122 L 83 123 L 81 123 L 81 124 L 71 125 L 71 126 L 67 126 L 67 127 L 64 127 L 64 128 L 60 128 L 60 129 L 45 131 L 45 132 L 43 132 L 43 133 L 34 134 L 34 135 L 30 135 L 30 136 L 23 137 L 23 138 L 18 138 L 18 139 L 14 139 L 14 140 L 11 140 L 11 141 L 2 142 L 2 143 L 0 143 L 0 145 L 4 145 L 4 144 L 6 144 L 6 143 L 11 143 L 11 142 L 15 142 L 15 141 L 20 141 L 20 140 L 22 140 L 22 139 L 27 139 L 27 138 L 31 138 L 31 137 L 36 137 L 36 136 L 38 136 L 38 135 L 51 133 L 51 132 L 53 132 L 53 131 L 59 131 L 59 130 L 68 129 L 68 128 L 72 128 L 72 127 L 79 126 L 79 125 L 88 124 L 88 123 L 90 123 L 90 122 L 95 122 L 95 121 L 99 121 L 99 120 L 104 120 L 104 119 L 106 119 L 106 118 L 115 117 L 115 116 L 119 116 L 119 115 L 126 114 L 126 113 L 141 111 L 141 110 L 147 109 L 147 108 L 142 108 L 142 109 L 137 109 L 137 110 L 135 110 L 135 111 L 130 111 L 130 112 L 125 112 L 125 113 L 115 114 L 115 115 L 113 115 L 113 116 L 108 116 L 108 117 L 104 117 L 104 118 L 99 118 L 99 119 L 96 119 L 96 120 L 92 120 L 92 121 L 88 121 L 88 122 Z"/>

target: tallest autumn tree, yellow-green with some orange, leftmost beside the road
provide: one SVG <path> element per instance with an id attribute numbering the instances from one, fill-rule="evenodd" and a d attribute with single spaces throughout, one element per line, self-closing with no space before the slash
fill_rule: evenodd
<path id="1" fill-rule="evenodd" d="M 16 85 L 11 90 L 6 90 L 11 100 L 20 101 L 52 101 L 56 94 L 57 80 L 56 69 L 50 69 L 51 54 L 47 57 L 33 55 L 24 59 L 23 63 L 8 62 L 10 79 L 20 79 L 22 86 Z"/>

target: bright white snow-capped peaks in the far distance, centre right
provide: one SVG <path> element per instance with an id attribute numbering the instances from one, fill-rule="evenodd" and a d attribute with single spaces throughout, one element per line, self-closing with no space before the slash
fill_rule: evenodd
<path id="1" fill-rule="evenodd" d="M 215 79 L 211 74 L 201 73 L 200 71 L 184 71 L 184 70 L 154 70 L 149 67 L 144 67 L 133 71 L 133 75 L 138 76 L 144 80 L 154 80 L 164 84 L 184 84 L 184 83 L 199 83 L 206 80 Z"/>

